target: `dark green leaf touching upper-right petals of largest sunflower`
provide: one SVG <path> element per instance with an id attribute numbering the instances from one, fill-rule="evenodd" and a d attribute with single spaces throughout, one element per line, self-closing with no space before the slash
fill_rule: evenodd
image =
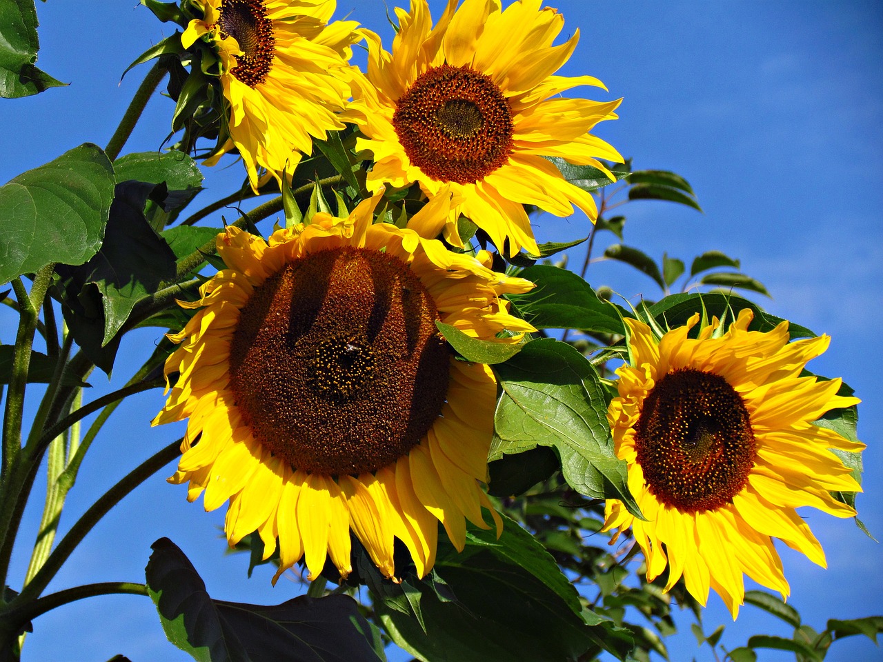
<path id="1" fill-rule="evenodd" d="M 518 275 L 536 283 L 537 287 L 525 294 L 509 295 L 509 300 L 518 314 L 534 327 L 625 334 L 623 315 L 627 313 L 598 297 L 595 290 L 573 272 L 536 265 Z"/>

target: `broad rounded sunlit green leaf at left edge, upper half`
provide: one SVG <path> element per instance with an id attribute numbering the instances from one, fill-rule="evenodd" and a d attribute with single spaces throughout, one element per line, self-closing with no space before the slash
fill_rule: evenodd
<path id="1" fill-rule="evenodd" d="M 102 244 L 113 195 L 113 168 L 88 143 L 0 187 L 0 283 L 52 262 L 89 260 Z"/>

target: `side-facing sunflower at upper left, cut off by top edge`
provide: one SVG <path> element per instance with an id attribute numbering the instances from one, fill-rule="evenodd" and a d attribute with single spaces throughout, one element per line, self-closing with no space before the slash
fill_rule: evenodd
<path id="1" fill-rule="evenodd" d="M 237 148 L 256 190 L 291 172 L 313 137 L 343 129 L 336 112 L 351 94 L 347 64 L 358 23 L 327 25 L 335 0 L 191 0 L 202 11 L 181 35 L 215 50 L 229 103 L 230 139 L 207 160 Z M 266 170 L 259 176 L 259 169 Z"/>

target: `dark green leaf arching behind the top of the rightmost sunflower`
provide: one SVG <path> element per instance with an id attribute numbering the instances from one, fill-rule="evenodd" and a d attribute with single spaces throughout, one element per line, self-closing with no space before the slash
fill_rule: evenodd
<path id="1" fill-rule="evenodd" d="M 694 312 L 701 314 L 705 310 L 709 319 L 712 316 L 722 319 L 726 313 L 729 320 L 734 320 L 734 313 L 737 314 L 743 308 L 750 308 L 754 312 L 754 320 L 750 327 L 752 331 L 771 331 L 783 321 L 781 317 L 764 312 L 757 304 L 748 299 L 735 294 L 723 295 L 718 292 L 672 294 L 650 306 L 649 311 L 657 320 L 664 322 L 663 326 L 675 328 L 683 326 Z M 789 322 L 788 330 L 791 340 L 816 336 L 810 329 L 794 322 Z"/>

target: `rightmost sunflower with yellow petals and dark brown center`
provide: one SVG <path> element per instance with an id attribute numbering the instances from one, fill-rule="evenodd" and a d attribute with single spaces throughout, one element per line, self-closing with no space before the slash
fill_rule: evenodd
<path id="1" fill-rule="evenodd" d="M 647 579 L 668 565 L 668 591 L 683 575 L 703 605 L 709 587 L 733 618 L 744 601 L 743 575 L 782 598 L 789 585 L 773 538 L 825 566 L 825 553 L 795 508 L 837 517 L 855 511 L 831 491 L 861 492 L 829 449 L 859 451 L 812 421 L 857 404 L 836 395 L 841 380 L 801 377 L 829 338 L 789 343 L 788 322 L 749 331 L 743 310 L 725 333 L 711 326 L 688 337 L 698 315 L 659 342 L 643 322 L 629 326 L 630 365 L 616 371 L 619 396 L 608 420 L 629 488 L 647 521 L 610 500 L 604 530 L 614 540 L 631 527 L 646 558 Z M 721 329 L 722 330 L 722 329 Z"/>

